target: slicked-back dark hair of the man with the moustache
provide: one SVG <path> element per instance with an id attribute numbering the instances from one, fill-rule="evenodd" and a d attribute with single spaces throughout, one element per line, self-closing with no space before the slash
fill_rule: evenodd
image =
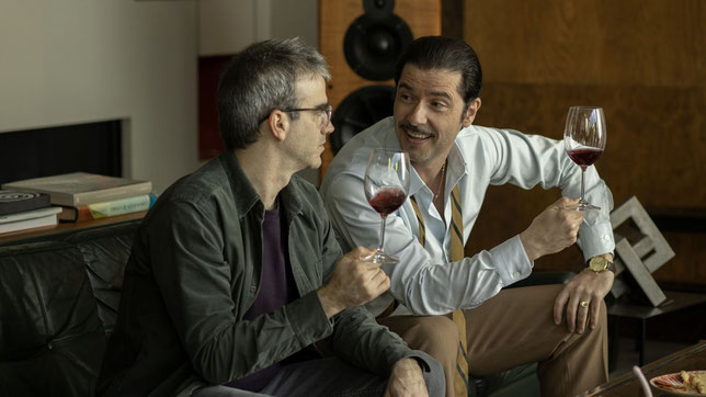
<path id="1" fill-rule="evenodd" d="M 413 41 L 395 66 L 395 86 L 402 76 L 405 65 L 412 64 L 422 70 L 445 69 L 460 71 L 458 93 L 468 104 L 478 98 L 482 88 L 482 71 L 476 52 L 464 41 L 425 36 Z"/>

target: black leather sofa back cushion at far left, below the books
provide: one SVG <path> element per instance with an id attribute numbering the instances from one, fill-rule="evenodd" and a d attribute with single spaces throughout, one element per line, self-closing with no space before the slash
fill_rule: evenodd
<path id="1" fill-rule="evenodd" d="M 0 248 L 0 396 L 90 396 L 104 349 L 76 247 Z"/>

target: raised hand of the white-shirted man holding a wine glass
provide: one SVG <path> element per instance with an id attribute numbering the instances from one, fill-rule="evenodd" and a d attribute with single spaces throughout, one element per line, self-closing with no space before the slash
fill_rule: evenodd
<path id="1" fill-rule="evenodd" d="M 577 240 L 583 212 L 576 211 L 579 200 L 561 197 L 549 205 L 520 234 L 520 240 L 531 261 L 559 252 Z"/>

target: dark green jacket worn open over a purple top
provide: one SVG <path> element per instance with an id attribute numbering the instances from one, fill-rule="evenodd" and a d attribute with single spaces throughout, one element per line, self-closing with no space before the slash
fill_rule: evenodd
<path id="1" fill-rule="evenodd" d="M 246 321 L 260 285 L 264 206 L 235 155 L 160 196 L 133 245 L 98 395 L 189 396 L 327 337 L 337 355 L 383 376 L 417 356 L 362 307 L 327 318 L 316 290 L 341 249 L 311 184 L 295 175 L 280 197 L 300 298 Z"/>

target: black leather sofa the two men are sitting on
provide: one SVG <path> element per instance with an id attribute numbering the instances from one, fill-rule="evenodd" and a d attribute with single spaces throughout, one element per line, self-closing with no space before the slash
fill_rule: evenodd
<path id="1" fill-rule="evenodd" d="M 139 219 L 0 242 L 0 397 L 92 396 Z M 522 285 L 566 282 L 537 273 Z M 536 365 L 474 396 L 538 396 Z"/>

